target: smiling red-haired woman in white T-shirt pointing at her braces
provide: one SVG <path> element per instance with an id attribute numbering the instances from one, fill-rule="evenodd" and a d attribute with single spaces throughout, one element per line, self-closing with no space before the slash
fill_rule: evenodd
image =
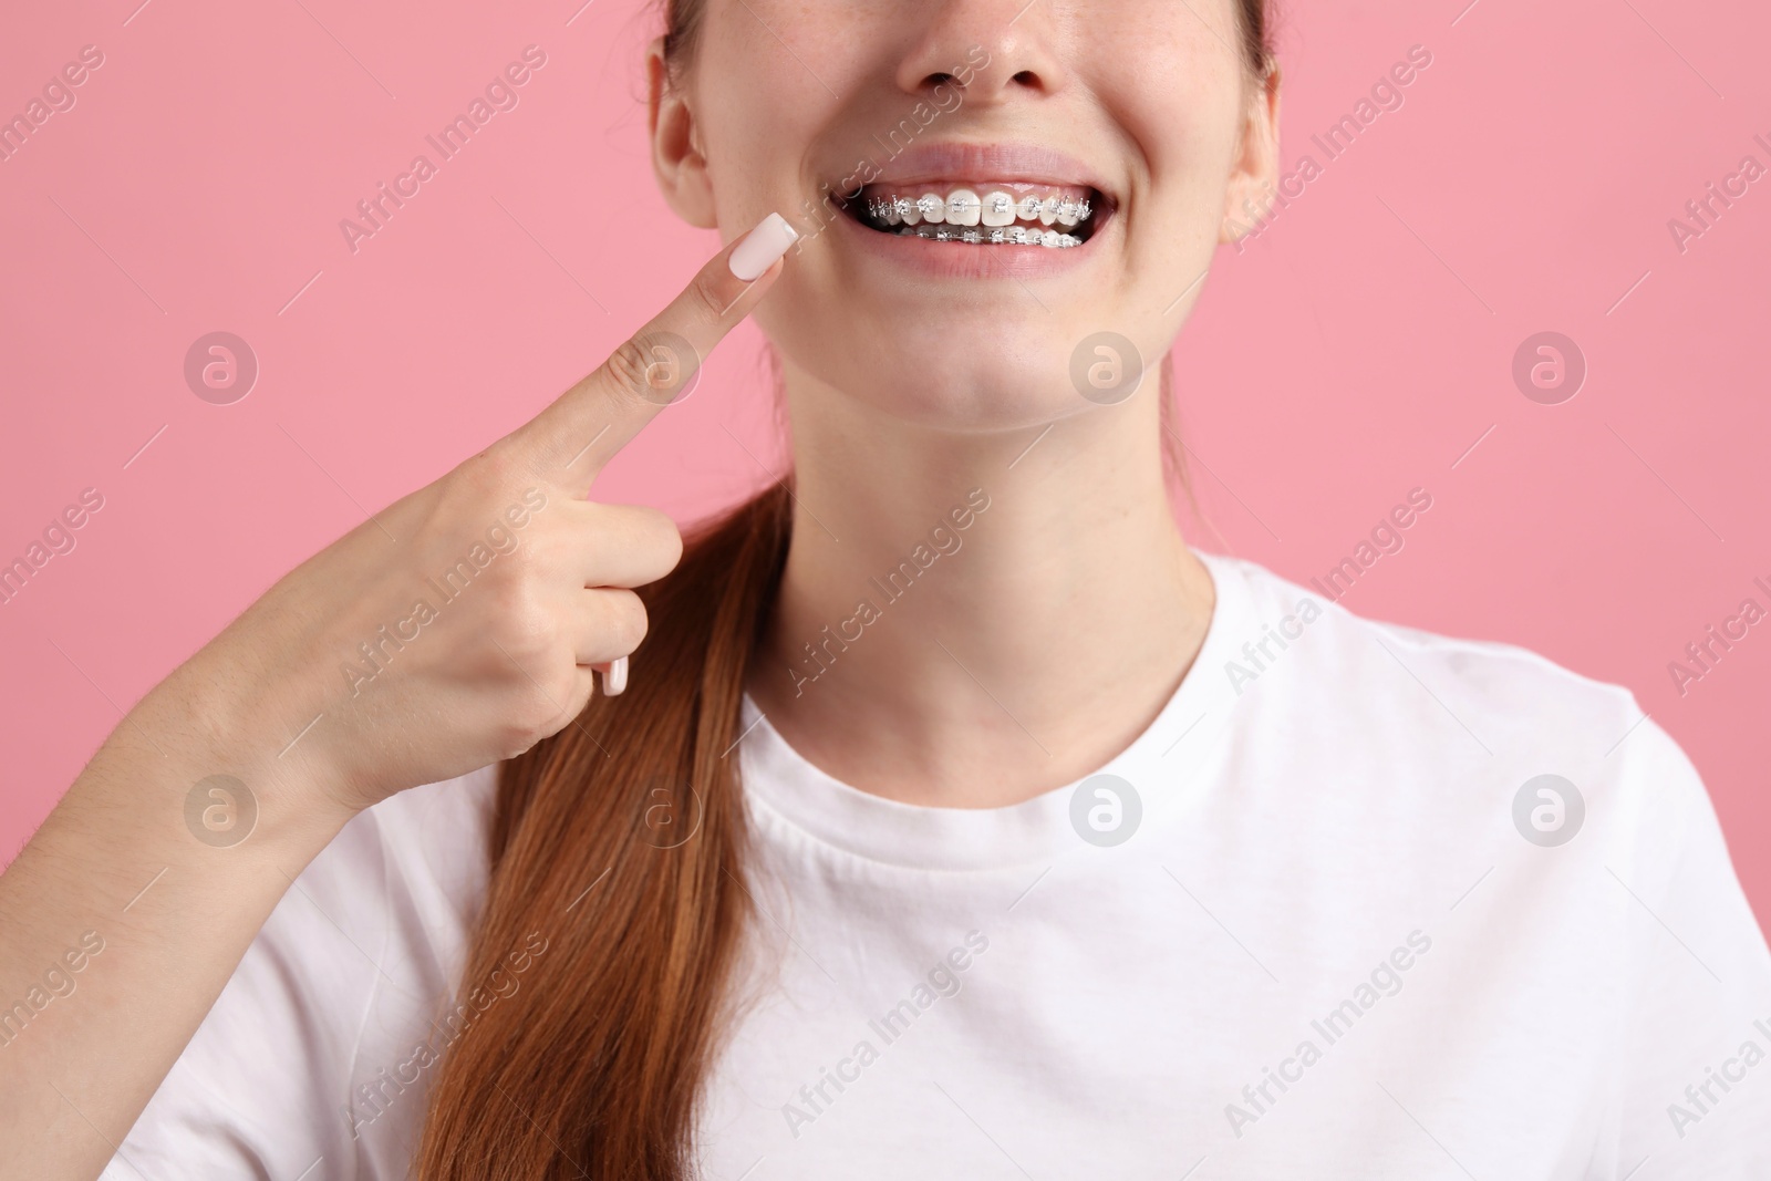
<path id="1" fill-rule="evenodd" d="M 1771 1176 L 1771 958 L 1629 694 L 1174 524 L 1259 0 L 666 21 L 664 197 L 758 228 L 129 712 L 0 880 L 78 979 L 9 1169 Z M 792 485 L 584 499 L 753 308 Z"/>

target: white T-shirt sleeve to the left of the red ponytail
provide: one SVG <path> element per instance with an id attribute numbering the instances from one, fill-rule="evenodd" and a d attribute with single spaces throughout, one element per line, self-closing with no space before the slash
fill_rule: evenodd
<path id="1" fill-rule="evenodd" d="M 434 1061 L 418 1050 L 485 887 L 476 777 L 402 791 L 313 859 L 101 1181 L 407 1176 Z"/>

